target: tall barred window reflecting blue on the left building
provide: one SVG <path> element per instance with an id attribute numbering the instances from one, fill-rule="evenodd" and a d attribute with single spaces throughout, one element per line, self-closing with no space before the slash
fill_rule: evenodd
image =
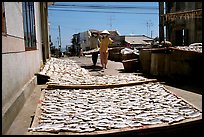
<path id="1" fill-rule="evenodd" d="M 22 2 L 26 50 L 36 49 L 34 2 Z"/>

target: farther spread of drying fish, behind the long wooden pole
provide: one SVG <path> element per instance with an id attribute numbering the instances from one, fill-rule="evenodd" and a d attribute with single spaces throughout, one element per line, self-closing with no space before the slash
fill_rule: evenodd
<path id="1" fill-rule="evenodd" d="M 100 85 L 126 84 L 135 81 L 145 81 L 146 78 L 134 74 L 119 74 L 117 76 L 92 76 L 88 70 L 81 68 L 72 60 L 51 58 L 40 74 L 50 76 L 47 84 L 59 85 Z"/>

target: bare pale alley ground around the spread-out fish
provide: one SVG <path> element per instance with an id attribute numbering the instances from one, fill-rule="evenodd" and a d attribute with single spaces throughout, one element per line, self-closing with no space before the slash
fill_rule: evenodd
<path id="1" fill-rule="evenodd" d="M 61 58 L 61 59 L 67 59 Z M 124 67 L 121 62 L 109 61 L 107 69 L 102 69 L 100 65 L 100 59 L 98 59 L 97 65 L 92 66 L 91 56 L 86 57 L 69 57 L 68 59 L 75 60 L 78 65 L 89 70 L 90 73 L 97 76 L 102 75 L 117 75 L 119 73 L 124 73 Z M 138 73 L 142 75 L 142 73 Z M 186 101 L 190 102 L 196 108 L 202 112 L 202 88 L 196 85 L 185 85 L 177 84 L 172 82 L 163 83 L 167 89 L 171 90 L 178 96 L 182 97 Z M 35 116 L 35 111 L 37 104 L 39 103 L 39 98 L 41 96 L 41 88 L 45 88 L 46 85 L 37 85 L 33 93 L 27 99 L 22 110 L 13 121 L 10 129 L 6 133 L 7 135 L 25 135 L 27 134 L 27 129 L 31 126 L 32 120 Z"/>

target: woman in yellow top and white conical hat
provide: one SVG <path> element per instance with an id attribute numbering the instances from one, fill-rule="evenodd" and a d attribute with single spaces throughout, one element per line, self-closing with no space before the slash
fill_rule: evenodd
<path id="1" fill-rule="evenodd" d="M 103 68 L 107 68 L 108 63 L 108 46 L 112 44 L 113 40 L 109 38 L 110 33 L 107 30 L 101 32 L 102 39 L 100 41 L 100 59 Z"/>

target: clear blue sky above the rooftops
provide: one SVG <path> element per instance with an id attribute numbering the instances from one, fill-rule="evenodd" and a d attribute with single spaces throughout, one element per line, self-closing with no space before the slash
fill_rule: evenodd
<path id="1" fill-rule="evenodd" d="M 159 36 L 158 2 L 55 2 L 48 7 L 48 21 L 55 46 L 60 25 L 62 48 L 71 45 L 73 34 L 89 29 Z"/>

